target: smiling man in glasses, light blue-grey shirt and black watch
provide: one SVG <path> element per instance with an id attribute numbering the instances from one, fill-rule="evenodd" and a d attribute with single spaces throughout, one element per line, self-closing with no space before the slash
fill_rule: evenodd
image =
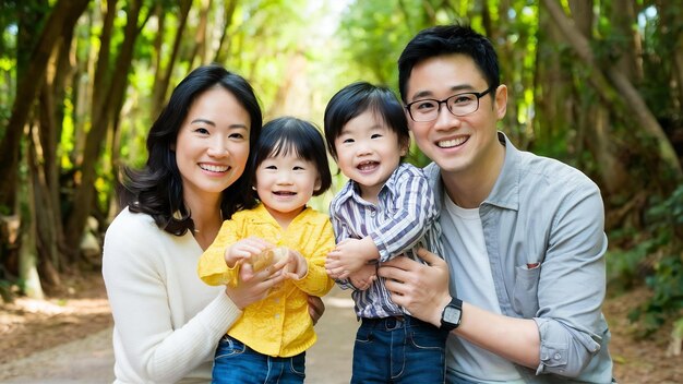
<path id="1" fill-rule="evenodd" d="M 598 187 L 498 131 L 507 87 L 469 26 L 420 32 L 398 70 L 410 130 L 433 160 L 445 262 L 422 250 L 430 265 L 383 263 L 392 300 L 452 331 L 450 383 L 612 382 Z"/>

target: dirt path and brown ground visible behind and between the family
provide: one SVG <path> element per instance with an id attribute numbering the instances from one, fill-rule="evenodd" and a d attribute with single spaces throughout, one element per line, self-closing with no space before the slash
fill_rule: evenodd
<path id="1" fill-rule="evenodd" d="M 357 323 L 347 292 L 333 292 L 316 326 L 319 343 L 307 356 L 309 383 L 349 382 Z M 620 383 L 683 383 L 683 356 L 666 352 L 670 327 L 634 337 L 637 325 L 627 314 L 647 295 L 636 289 L 606 302 L 614 375 Z M 111 383 L 110 326 L 98 274 L 68 281 L 48 301 L 0 304 L 0 383 Z"/>

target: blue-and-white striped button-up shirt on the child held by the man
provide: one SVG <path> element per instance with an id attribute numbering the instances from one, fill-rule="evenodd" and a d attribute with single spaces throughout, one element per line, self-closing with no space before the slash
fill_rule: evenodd
<path id="1" fill-rule="evenodd" d="M 336 241 L 370 236 L 380 251 L 380 263 L 400 254 L 419 260 L 417 248 L 443 254 L 439 212 L 421 169 L 399 165 L 380 190 L 378 201 L 378 205 L 364 201 L 358 183 L 349 180 L 329 204 Z M 354 288 L 348 280 L 337 283 L 342 288 Z M 351 296 L 359 317 L 408 314 L 391 300 L 382 277 L 367 290 L 354 290 Z"/>

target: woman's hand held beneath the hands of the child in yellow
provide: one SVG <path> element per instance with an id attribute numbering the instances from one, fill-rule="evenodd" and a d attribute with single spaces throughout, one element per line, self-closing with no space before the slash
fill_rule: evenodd
<path id="1" fill-rule="evenodd" d="M 240 268 L 239 279 L 236 287 L 226 286 L 226 295 L 235 305 L 243 310 L 249 304 L 265 299 L 271 288 L 285 279 L 283 266 L 272 265 L 259 272 L 254 272 L 251 264 L 243 263 Z"/>

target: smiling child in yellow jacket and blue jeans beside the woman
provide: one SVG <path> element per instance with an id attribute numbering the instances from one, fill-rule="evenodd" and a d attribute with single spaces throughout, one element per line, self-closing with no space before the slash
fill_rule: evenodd
<path id="1" fill-rule="evenodd" d="M 308 296 L 334 286 L 325 272 L 335 247 L 329 218 L 307 207 L 332 184 L 325 144 L 312 123 L 285 117 L 263 125 L 252 151 L 248 175 L 260 204 L 224 221 L 200 259 L 199 275 L 209 285 L 236 285 L 249 263 L 254 269 L 284 265 L 287 279 L 244 308 L 219 341 L 213 383 L 302 383 L 305 350 L 316 339 Z"/>

